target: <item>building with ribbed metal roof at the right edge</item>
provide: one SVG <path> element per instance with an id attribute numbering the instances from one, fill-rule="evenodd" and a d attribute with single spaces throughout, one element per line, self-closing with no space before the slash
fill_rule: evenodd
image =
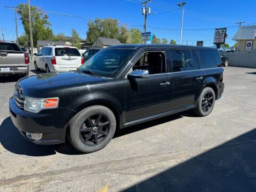
<path id="1" fill-rule="evenodd" d="M 241 26 L 233 37 L 233 40 L 237 41 L 238 52 L 256 49 L 256 25 Z"/>

